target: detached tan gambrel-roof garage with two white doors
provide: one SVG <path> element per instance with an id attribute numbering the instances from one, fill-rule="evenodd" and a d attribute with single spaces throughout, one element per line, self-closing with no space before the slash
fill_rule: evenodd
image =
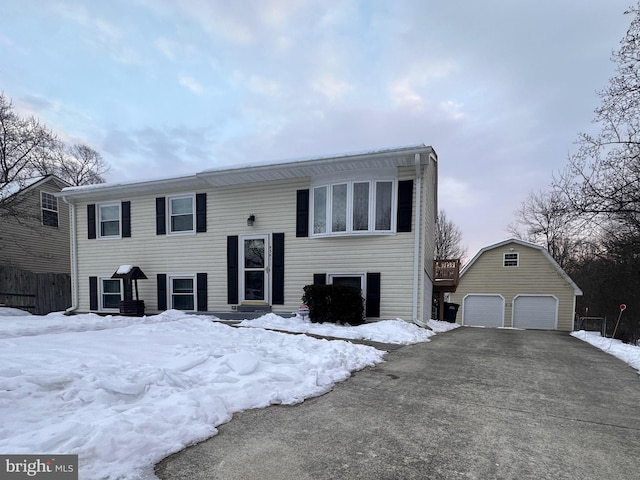
<path id="1" fill-rule="evenodd" d="M 450 301 L 460 305 L 462 325 L 571 331 L 577 295 L 547 250 L 509 239 L 473 257 Z"/>

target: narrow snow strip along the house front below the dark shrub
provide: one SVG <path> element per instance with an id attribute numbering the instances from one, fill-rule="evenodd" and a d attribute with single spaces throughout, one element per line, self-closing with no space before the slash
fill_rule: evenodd
<path id="1" fill-rule="evenodd" d="M 255 320 L 243 320 L 240 322 L 240 326 L 402 345 L 428 342 L 429 337 L 435 335 L 433 331 L 420 328 L 401 318 L 381 320 L 351 327 L 334 323 L 311 323 L 309 319 L 300 317 L 283 318 L 274 313 L 269 313 Z"/>

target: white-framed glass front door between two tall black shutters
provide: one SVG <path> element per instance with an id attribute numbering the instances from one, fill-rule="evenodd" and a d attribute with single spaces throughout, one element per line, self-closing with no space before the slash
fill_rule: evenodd
<path id="1" fill-rule="evenodd" d="M 243 235 L 240 247 L 242 303 L 269 303 L 269 235 Z"/>

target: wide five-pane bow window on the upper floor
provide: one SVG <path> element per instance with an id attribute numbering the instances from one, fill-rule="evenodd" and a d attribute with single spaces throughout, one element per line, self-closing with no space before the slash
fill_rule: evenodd
<path id="1" fill-rule="evenodd" d="M 313 188 L 313 235 L 393 232 L 395 180 L 334 182 Z"/>

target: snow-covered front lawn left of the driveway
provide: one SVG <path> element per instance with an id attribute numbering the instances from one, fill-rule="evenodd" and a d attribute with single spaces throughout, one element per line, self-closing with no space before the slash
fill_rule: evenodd
<path id="1" fill-rule="evenodd" d="M 433 335 L 402 320 L 338 327 L 268 315 L 245 322 L 261 328 L 235 328 L 178 311 L 16 313 L 0 308 L 0 452 L 77 454 L 83 480 L 155 478 L 155 463 L 233 413 L 321 395 L 385 354 L 265 328 L 388 343 Z"/>

